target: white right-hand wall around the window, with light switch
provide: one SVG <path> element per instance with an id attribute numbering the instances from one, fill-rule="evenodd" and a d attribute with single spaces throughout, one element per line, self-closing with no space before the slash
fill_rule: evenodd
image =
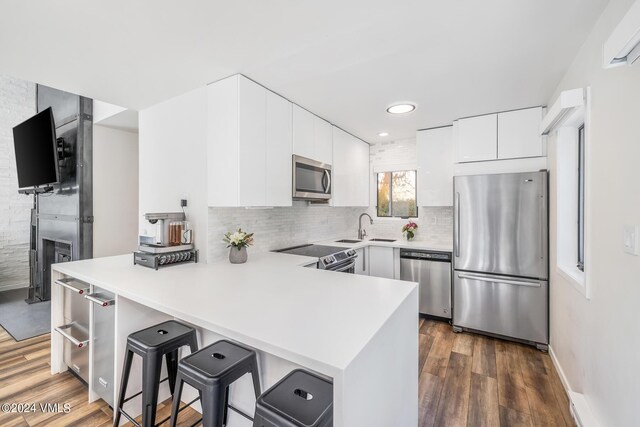
<path id="1" fill-rule="evenodd" d="M 551 169 L 551 347 L 573 391 L 584 393 L 602 426 L 640 416 L 640 257 L 622 250 L 624 224 L 640 223 L 640 67 L 604 70 L 602 45 L 631 0 L 612 0 L 562 79 L 562 90 L 591 86 L 591 300 L 557 273 L 556 141 Z"/>

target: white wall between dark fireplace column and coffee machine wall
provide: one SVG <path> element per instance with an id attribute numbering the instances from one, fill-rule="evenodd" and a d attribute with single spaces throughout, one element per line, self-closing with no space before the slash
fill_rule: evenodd
<path id="1" fill-rule="evenodd" d="M 138 242 L 138 135 L 93 126 L 93 256 L 131 253 Z"/>

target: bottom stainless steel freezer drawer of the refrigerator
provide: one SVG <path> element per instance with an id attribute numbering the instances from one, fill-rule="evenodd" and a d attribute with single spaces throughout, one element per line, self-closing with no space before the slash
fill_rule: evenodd
<path id="1" fill-rule="evenodd" d="M 456 271 L 453 323 L 546 344 L 549 342 L 548 292 L 549 283 L 545 280 Z"/>

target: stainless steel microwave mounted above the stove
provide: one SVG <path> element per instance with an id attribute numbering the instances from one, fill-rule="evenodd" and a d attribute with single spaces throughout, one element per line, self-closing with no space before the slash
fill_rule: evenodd
<path id="1" fill-rule="evenodd" d="M 312 201 L 331 199 L 331 165 L 294 154 L 293 198 Z"/>

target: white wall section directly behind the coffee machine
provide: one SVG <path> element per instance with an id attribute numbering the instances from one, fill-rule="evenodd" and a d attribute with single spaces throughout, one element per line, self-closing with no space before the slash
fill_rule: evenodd
<path id="1" fill-rule="evenodd" d="M 207 90 L 200 88 L 140 111 L 140 230 L 142 215 L 180 212 L 186 198 L 200 259 L 207 259 Z M 224 185 L 224 184 L 221 184 Z"/>

